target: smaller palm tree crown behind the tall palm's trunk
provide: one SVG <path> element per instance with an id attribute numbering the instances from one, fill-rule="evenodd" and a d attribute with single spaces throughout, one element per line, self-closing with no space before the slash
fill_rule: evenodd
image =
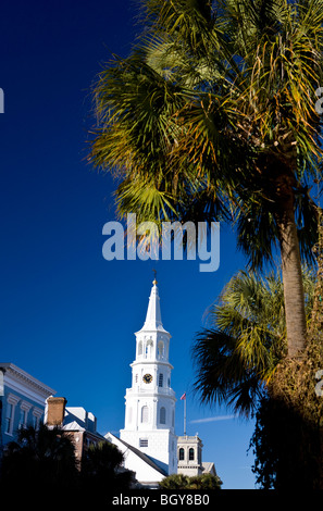
<path id="1" fill-rule="evenodd" d="M 309 324 L 316 279 L 308 269 L 302 275 Z M 226 403 L 248 416 L 266 394 L 286 350 L 281 276 L 237 273 L 210 308 L 209 322 L 191 348 L 195 390 L 202 402 Z"/>

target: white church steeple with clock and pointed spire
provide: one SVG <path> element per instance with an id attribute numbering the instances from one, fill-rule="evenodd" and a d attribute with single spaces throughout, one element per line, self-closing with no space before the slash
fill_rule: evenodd
<path id="1" fill-rule="evenodd" d="M 154 278 L 146 321 L 136 336 L 132 387 L 125 396 L 125 427 L 121 440 L 153 460 L 165 473 L 177 472 L 175 392 L 169 362 L 171 334 L 163 328 Z M 162 478 L 162 476 L 161 476 Z"/>

